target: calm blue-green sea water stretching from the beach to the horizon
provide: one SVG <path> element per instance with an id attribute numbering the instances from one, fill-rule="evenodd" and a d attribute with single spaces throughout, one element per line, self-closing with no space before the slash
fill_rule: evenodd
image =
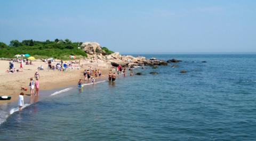
<path id="1" fill-rule="evenodd" d="M 39 98 L 0 125 L 0 140 L 256 139 L 255 54 L 143 56 L 183 62 Z"/>

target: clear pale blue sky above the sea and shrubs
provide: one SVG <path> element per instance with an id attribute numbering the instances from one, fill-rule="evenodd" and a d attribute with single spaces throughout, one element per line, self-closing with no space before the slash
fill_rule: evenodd
<path id="1" fill-rule="evenodd" d="M 121 53 L 256 52 L 254 0 L 0 0 L 0 42 L 70 39 Z"/>

